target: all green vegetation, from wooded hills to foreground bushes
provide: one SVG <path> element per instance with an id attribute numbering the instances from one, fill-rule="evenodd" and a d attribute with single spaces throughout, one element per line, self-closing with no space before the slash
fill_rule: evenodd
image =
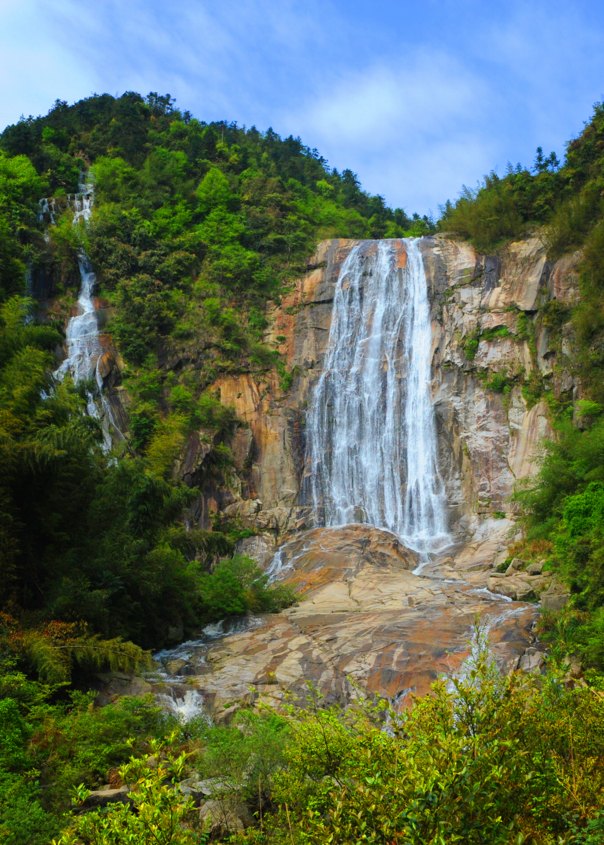
<path id="1" fill-rule="evenodd" d="M 69 194 L 83 174 L 95 183 L 95 204 L 91 221 L 74 226 Z M 52 199 L 52 219 L 41 198 Z M 538 150 L 534 166 L 493 172 L 441 212 L 436 224 L 393 210 L 300 139 L 204 123 L 169 95 L 57 101 L 46 116 L 4 130 L 3 841 L 46 845 L 71 825 L 65 845 L 204 842 L 199 815 L 166 785 L 193 771 L 221 779 L 229 801 L 255 810 L 246 842 L 601 841 L 604 106 L 562 165 Z M 301 715 L 242 711 L 234 729 L 180 724 L 146 699 L 93 707 L 86 690 L 94 673 L 144 668 L 146 650 L 201 624 L 294 602 L 291 590 L 267 586 L 252 560 L 234 554 L 240 526 L 184 526 L 197 492 L 174 476 L 173 460 L 194 430 L 217 471 L 232 460 L 242 423 L 211 389 L 221 373 L 274 370 L 288 390 L 294 373 L 264 341 L 265 307 L 305 272 L 318 241 L 437 229 L 488 254 L 531 233 L 549 258 L 582 251 L 580 299 L 546 303 L 541 313 L 553 337 L 572 327 L 569 366 L 581 395 L 530 385 L 533 401 L 549 403 L 556 439 L 541 474 L 516 493 L 525 528 L 517 553 L 546 559 L 573 595 L 540 622 L 552 645 L 548 678 L 499 678 L 478 631 L 474 674 L 455 690 L 437 686 L 409 722 L 387 714 L 385 701 L 376 709 L 361 701 L 343 715 L 312 690 Z M 127 440 L 110 455 L 86 412 L 96 383 L 52 375 L 82 250 L 129 395 Z M 527 332 L 536 316 L 524 318 Z M 163 368 L 167 358 L 183 366 Z M 568 653 L 591 667 L 585 689 L 568 686 Z M 133 752 L 138 760 L 120 774 Z M 146 810 L 62 816 L 73 806 L 70 788 L 124 779 L 144 783 Z M 84 787 L 73 798 L 81 803 Z"/>

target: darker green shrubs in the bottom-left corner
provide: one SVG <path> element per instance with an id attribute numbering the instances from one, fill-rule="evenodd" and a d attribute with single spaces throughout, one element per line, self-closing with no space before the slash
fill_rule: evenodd
<path id="1" fill-rule="evenodd" d="M 50 703 L 57 688 L 19 673 L 0 673 L 0 680 L 0 832 L 9 845 L 47 845 L 64 825 L 75 784 L 104 782 L 132 744 L 140 748 L 149 733 L 161 738 L 171 729 L 148 699 L 124 698 L 99 709 L 92 706 L 94 692 L 72 692 L 71 701 Z"/>

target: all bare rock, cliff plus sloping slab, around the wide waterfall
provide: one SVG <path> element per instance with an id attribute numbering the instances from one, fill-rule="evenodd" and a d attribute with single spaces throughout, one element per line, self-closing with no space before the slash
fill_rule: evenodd
<path id="1" fill-rule="evenodd" d="M 543 665 L 531 633 L 537 607 L 526 600 L 556 585 L 542 575 L 491 575 L 517 534 L 514 483 L 535 471 L 540 439 L 552 433 L 547 394 L 577 390 L 564 324 L 577 293 L 576 257 L 552 264 L 536 238 L 499 256 L 448 237 L 422 240 L 431 390 L 454 543 L 418 567 L 388 532 L 313 526 L 301 492 L 306 408 L 322 372 L 338 271 L 355 243 L 321 243 L 308 273 L 267 312 L 266 343 L 287 357 L 289 389 L 275 373 L 216 382 L 222 402 L 249 428 L 233 443 L 233 477 L 206 488 L 196 517 L 203 525 L 219 510 L 225 521 L 236 517 L 254 529 L 239 550 L 265 567 L 272 562 L 272 573 L 302 592 L 298 606 L 250 619 L 227 638 L 181 646 L 168 664 L 163 683 L 172 700 L 193 684 L 218 720 L 252 701 L 278 705 L 290 691 L 304 695 L 308 680 L 328 700 L 349 700 L 358 683 L 406 706 L 438 673 L 459 671 L 475 613 L 489 626 L 504 671 Z M 404 266 L 404 242 L 393 247 Z M 557 303 L 550 325 L 547 303 Z M 194 479 L 202 463 L 192 442 L 185 477 Z"/>

